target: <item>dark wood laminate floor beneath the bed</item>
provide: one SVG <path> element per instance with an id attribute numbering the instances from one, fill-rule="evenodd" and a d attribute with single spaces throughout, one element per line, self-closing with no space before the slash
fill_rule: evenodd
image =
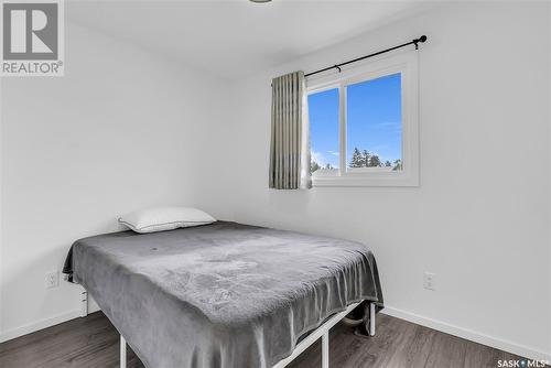
<path id="1" fill-rule="evenodd" d="M 101 312 L 0 344 L 0 367 L 118 367 L 119 335 Z M 331 332 L 331 367 L 497 367 L 521 359 L 480 344 L 378 315 L 375 337 L 356 336 L 337 325 Z M 129 349 L 128 367 L 143 367 Z M 321 367 L 317 342 L 289 367 Z"/>

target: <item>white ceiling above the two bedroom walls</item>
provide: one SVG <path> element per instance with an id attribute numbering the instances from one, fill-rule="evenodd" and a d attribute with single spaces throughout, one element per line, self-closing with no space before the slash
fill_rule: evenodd
<path id="1" fill-rule="evenodd" d="M 425 1 L 66 1 L 74 23 L 234 79 L 423 11 Z"/>

